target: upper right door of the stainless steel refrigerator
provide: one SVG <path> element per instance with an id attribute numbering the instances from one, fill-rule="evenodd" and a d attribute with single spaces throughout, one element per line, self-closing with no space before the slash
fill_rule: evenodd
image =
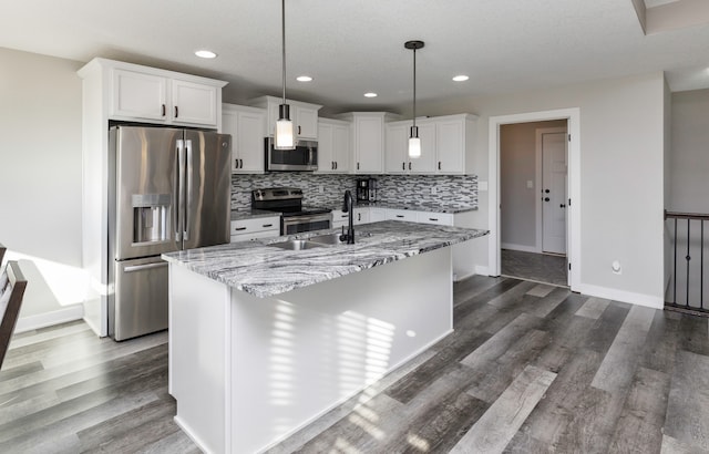
<path id="1" fill-rule="evenodd" d="M 229 243 L 232 136 L 185 131 L 183 249 Z"/>

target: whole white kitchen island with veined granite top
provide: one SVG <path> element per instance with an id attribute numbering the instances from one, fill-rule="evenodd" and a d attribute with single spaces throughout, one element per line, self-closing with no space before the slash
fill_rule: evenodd
<path id="1" fill-rule="evenodd" d="M 383 221 L 359 226 L 354 245 L 164 255 L 175 421 L 213 453 L 292 434 L 452 331 L 449 246 L 485 234 Z"/>

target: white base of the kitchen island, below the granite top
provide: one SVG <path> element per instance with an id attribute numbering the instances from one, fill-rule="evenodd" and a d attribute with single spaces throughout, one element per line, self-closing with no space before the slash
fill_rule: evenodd
<path id="1" fill-rule="evenodd" d="M 266 450 L 453 329 L 451 248 L 268 298 L 169 265 L 169 392 L 207 453 Z"/>

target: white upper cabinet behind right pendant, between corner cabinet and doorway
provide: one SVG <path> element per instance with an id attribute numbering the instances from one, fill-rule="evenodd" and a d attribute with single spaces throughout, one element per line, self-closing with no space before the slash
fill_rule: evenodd
<path id="1" fill-rule="evenodd" d="M 409 158 L 412 122 L 387 124 L 386 173 L 455 175 L 473 173 L 475 120 L 471 114 L 423 118 L 417 122 L 421 157 Z"/>

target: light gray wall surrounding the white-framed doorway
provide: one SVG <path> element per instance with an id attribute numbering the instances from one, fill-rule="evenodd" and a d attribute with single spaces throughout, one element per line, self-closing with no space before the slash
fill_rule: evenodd
<path id="1" fill-rule="evenodd" d="M 616 80 L 421 103 L 422 115 L 479 115 L 474 168 L 489 178 L 491 116 L 578 107 L 580 111 L 579 291 L 660 307 L 664 295 L 665 79 L 661 72 Z M 479 186 L 480 187 L 480 186 Z M 480 190 L 476 227 L 491 215 Z M 476 243 L 489 265 L 487 239 Z M 613 274 L 618 260 L 623 274 Z"/>

